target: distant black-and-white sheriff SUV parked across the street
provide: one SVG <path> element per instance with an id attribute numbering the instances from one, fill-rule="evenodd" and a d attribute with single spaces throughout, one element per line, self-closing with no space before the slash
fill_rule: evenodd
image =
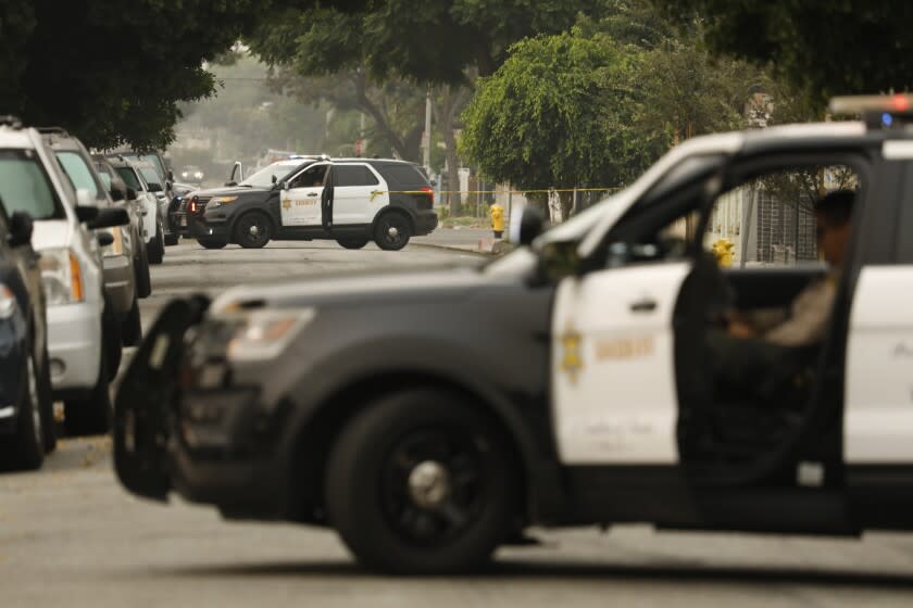
<path id="1" fill-rule="evenodd" d="M 414 163 L 313 156 L 189 194 L 176 216 L 183 235 L 208 249 L 329 239 L 346 249 L 374 241 L 398 251 L 438 224 L 434 190 Z"/>

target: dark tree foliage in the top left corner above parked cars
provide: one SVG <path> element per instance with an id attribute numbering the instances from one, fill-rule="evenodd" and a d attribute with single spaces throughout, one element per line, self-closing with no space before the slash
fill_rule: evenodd
<path id="1" fill-rule="evenodd" d="M 178 103 L 211 96 L 202 65 L 268 2 L 10 0 L 0 8 L 0 113 L 60 125 L 89 145 L 165 147 Z"/>

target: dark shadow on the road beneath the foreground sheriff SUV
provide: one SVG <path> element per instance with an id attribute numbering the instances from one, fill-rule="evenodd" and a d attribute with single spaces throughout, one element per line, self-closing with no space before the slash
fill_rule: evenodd
<path id="1" fill-rule="evenodd" d="M 382 574 L 365 570 L 350 561 L 285 561 L 238 563 L 223 566 L 195 566 L 174 569 L 155 569 L 152 575 L 171 577 L 315 577 L 345 579 L 350 582 L 377 580 Z M 525 580 L 536 583 L 574 580 L 579 582 L 650 581 L 681 584 L 802 584 L 812 586 L 841 586 L 878 590 L 913 590 L 913 572 L 859 572 L 841 569 L 751 568 L 743 566 L 683 566 L 683 565 L 612 565 L 601 562 L 549 563 L 521 560 L 498 560 L 485 570 L 462 574 L 466 582 L 505 581 L 512 584 Z M 453 577 L 397 577 L 400 581 L 452 580 Z"/>

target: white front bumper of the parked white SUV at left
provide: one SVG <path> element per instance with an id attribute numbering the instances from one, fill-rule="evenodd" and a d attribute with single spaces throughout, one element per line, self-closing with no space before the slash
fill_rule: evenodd
<path id="1" fill-rule="evenodd" d="M 90 302 L 48 306 L 48 355 L 55 392 L 88 390 L 99 378 L 101 311 Z"/>

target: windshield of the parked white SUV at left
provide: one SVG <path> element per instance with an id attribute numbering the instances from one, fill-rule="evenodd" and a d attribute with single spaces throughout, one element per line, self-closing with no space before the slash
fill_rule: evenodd
<path id="1" fill-rule="evenodd" d="M 35 219 L 65 217 L 48 174 L 30 150 L 0 150 L 0 202 L 8 215 L 24 211 Z"/>

